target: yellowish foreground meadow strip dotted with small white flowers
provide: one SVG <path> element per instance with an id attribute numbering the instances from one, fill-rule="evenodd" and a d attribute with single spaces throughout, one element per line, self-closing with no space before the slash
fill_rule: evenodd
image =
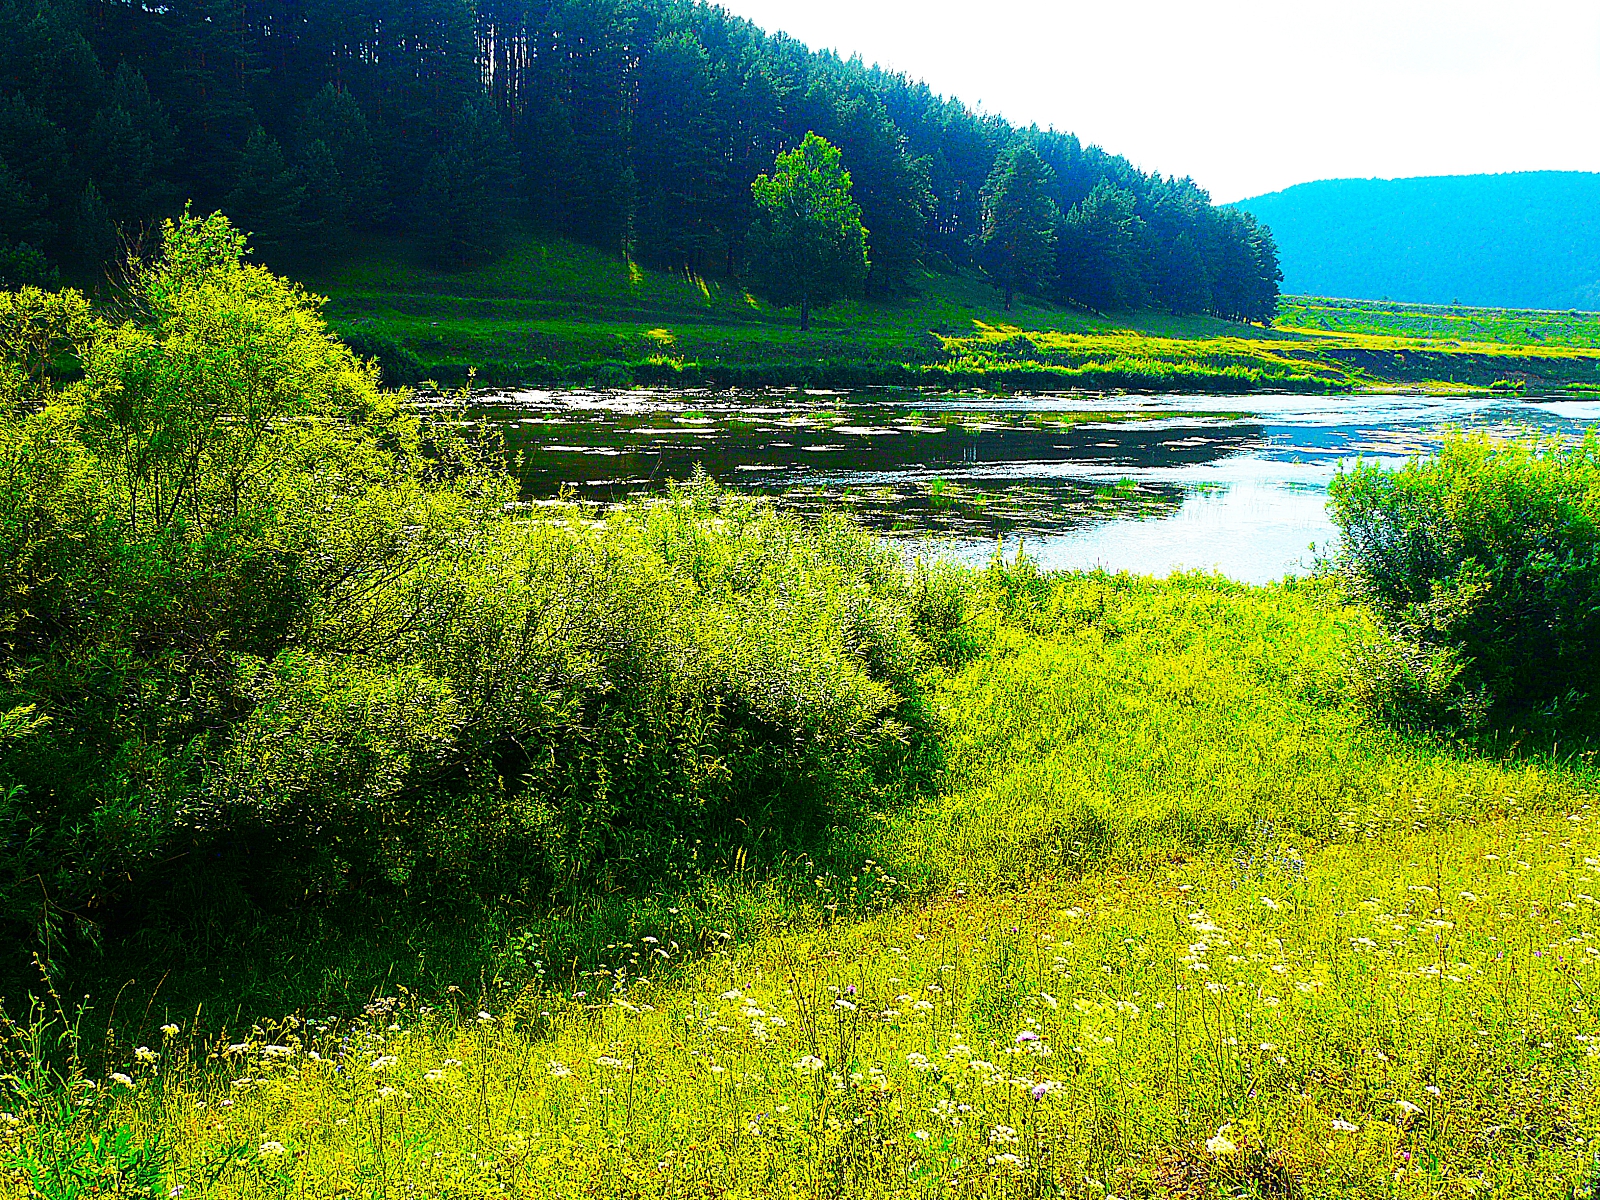
<path id="1" fill-rule="evenodd" d="M 78 1098 L 162 1136 L 187 1195 L 1570 1195 L 1600 1109 L 1587 811 L 1262 850 L 579 1002 L 178 1034 Z"/>

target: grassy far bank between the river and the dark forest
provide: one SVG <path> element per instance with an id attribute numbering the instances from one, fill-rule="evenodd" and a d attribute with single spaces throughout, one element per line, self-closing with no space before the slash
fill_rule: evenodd
<path id="1" fill-rule="evenodd" d="M 1141 312 L 1102 317 L 923 272 L 914 296 L 842 304 L 800 333 L 725 282 L 667 275 L 566 242 L 523 238 L 493 267 L 442 274 L 373 245 L 307 280 L 334 326 L 395 381 L 454 386 L 928 386 L 1341 392 L 1600 386 L 1586 323 L 1512 339 L 1506 322 L 1411 328 L 1288 304 L 1274 328 Z M 1549 322 L 1546 322 L 1549 323 Z M 1526 325 L 1526 322 L 1523 323 Z M 1518 326 L 1522 328 L 1522 326 Z"/>

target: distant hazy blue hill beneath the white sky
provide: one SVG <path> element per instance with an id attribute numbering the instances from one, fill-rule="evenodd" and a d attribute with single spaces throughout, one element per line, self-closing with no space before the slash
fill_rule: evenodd
<path id="1" fill-rule="evenodd" d="M 1323 179 L 1235 208 L 1272 229 L 1288 294 L 1600 309 L 1600 174 Z"/>

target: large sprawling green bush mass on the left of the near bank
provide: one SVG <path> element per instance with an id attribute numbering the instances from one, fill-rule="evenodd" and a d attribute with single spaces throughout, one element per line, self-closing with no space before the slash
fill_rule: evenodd
<path id="1" fill-rule="evenodd" d="M 949 579 L 704 478 L 526 515 L 242 250 L 0 306 L 83 365 L 0 371 L 0 970 L 771 862 L 936 768 Z"/>

